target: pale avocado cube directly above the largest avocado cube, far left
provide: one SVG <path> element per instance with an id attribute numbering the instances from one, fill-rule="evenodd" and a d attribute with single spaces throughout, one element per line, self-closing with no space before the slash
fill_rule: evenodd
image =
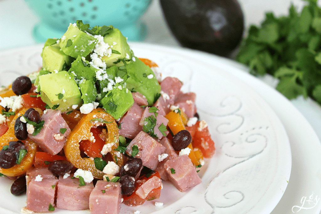
<path id="1" fill-rule="evenodd" d="M 73 58 L 65 55 L 57 44 L 46 46 L 43 49 L 42 67 L 51 73 L 62 71 L 66 66 L 70 66 L 72 61 Z"/>

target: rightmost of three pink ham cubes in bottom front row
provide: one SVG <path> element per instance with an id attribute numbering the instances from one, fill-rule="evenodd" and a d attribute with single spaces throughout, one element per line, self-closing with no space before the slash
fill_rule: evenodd
<path id="1" fill-rule="evenodd" d="M 91 214 L 119 214 L 121 204 L 121 189 L 119 183 L 97 181 L 89 196 Z"/>

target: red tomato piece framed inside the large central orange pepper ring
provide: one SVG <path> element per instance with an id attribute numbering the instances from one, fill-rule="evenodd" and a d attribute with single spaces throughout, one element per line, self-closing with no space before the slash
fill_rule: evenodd
<path id="1" fill-rule="evenodd" d="M 102 127 L 91 128 L 90 131 L 92 136 L 95 138 L 95 142 L 91 142 L 89 140 L 81 141 L 79 143 L 79 149 L 88 157 L 92 158 L 101 158 L 102 155 L 100 154 L 103 146 L 105 145 L 105 141 L 103 141 L 99 134 L 101 133 Z"/>

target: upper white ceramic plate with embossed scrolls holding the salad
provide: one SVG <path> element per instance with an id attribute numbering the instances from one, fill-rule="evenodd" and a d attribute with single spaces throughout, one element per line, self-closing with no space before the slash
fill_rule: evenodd
<path id="1" fill-rule="evenodd" d="M 156 200 L 164 203 L 162 207 L 147 201 L 139 207 L 123 205 L 121 213 L 270 213 L 285 192 L 291 172 L 289 139 L 272 108 L 231 75 L 219 58 L 209 60 L 198 57 L 198 52 L 141 43 L 131 43 L 131 47 L 136 56 L 155 61 L 163 77 L 178 77 L 184 82 L 183 90 L 196 93 L 198 113 L 208 123 L 216 153 L 199 172 L 202 184 L 181 193 L 164 182 Z M 32 46 L 1 52 L 0 84 L 8 85 L 37 70 L 41 49 Z M 0 212 L 4 214 L 19 213 L 25 206 L 25 196 L 9 192 L 11 183 L 1 179 Z M 89 211 L 56 209 L 55 213 Z"/>

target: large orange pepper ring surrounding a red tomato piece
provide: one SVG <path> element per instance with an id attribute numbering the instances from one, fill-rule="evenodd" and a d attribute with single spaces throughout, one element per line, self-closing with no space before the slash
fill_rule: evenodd
<path id="1" fill-rule="evenodd" d="M 80 156 L 79 142 L 91 139 L 91 127 L 105 124 L 107 126 L 107 138 L 105 144 L 113 143 L 112 150 L 109 152 L 118 166 L 123 165 L 123 156 L 115 151 L 119 145 L 118 126 L 115 119 L 105 112 L 102 108 L 92 110 L 91 113 L 84 115 L 74 127 L 65 143 L 65 156 L 75 167 L 90 171 L 92 175 L 102 180 L 104 173 L 95 167 L 91 158 Z"/>

